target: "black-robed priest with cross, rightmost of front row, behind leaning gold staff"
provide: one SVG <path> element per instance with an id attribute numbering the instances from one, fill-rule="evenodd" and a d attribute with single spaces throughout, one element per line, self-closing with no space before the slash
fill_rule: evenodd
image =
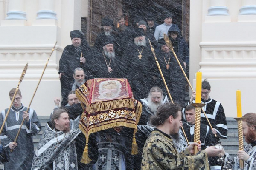
<path id="1" fill-rule="evenodd" d="M 165 78 L 166 84 L 169 88 L 169 92 L 172 96 L 172 100 L 175 103 L 178 103 L 180 106 L 184 106 L 185 104 L 185 77 L 181 71 L 181 68 L 175 59 L 171 49 L 166 45 L 165 40 L 158 40 L 159 46 L 161 48 L 160 52 L 158 52 L 157 60 L 159 62 L 160 68 L 162 70 L 163 76 Z M 183 69 L 185 65 L 183 64 L 182 57 L 177 56 Z M 155 69 L 157 65 L 154 65 Z M 158 71 L 157 73 L 157 86 L 163 89 L 165 93 L 166 87 L 164 85 L 163 79 Z"/>

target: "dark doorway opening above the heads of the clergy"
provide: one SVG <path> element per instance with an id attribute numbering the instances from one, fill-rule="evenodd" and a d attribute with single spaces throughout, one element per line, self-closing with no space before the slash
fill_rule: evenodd
<path id="1" fill-rule="evenodd" d="M 110 17 L 117 26 L 116 18 L 125 15 L 126 23 L 133 25 L 138 18 L 145 20 L 148 14 L 155 17 L 157 24 L 163 23 L 163 12 L 172 12 L 173 23 L 177 24 L 188 42 L 189 39 L 189 0 L 89 0 L 88 2 L 87 41 L 94 44 L 101 31 L 101 20 Z M 83 24 L 82 23 L 82 24 Z"/>

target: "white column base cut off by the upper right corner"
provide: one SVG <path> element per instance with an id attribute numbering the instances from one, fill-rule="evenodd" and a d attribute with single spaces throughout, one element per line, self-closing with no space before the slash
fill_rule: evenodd
<path id="1" fill-rule="evenodd" d="M 239 15 L 256 15 L 256 0 L 242 0 Z"/>

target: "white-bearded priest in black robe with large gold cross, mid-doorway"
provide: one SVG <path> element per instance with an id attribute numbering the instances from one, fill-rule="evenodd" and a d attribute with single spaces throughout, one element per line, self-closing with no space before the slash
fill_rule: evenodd
<path id="1" fill-rule="evenodd" d="M 131 89 L 136 99 L 148 96 L 148 91 L 154 86 L 154 56 L 143 28 L 134 29 L 134 44 L 125 52 L 125 70 Z"/>

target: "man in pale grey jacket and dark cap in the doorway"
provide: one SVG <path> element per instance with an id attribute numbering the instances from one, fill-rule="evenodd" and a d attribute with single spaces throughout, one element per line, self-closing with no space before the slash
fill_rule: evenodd
<path id="1" fill-rule="evenodd" d="M 157 26 L 154 32 L 154 37 L 157 41 L 163 38 L 164 33 L 167 35 L 168 30 L 171 27 L 177 27 L 177 29 L 179 29 L 179 27 L 176 24 L 172 24 L 173 15 L 171 13 L 164 12 L 162 16 L 163 16 L 164 23 Z"/>

